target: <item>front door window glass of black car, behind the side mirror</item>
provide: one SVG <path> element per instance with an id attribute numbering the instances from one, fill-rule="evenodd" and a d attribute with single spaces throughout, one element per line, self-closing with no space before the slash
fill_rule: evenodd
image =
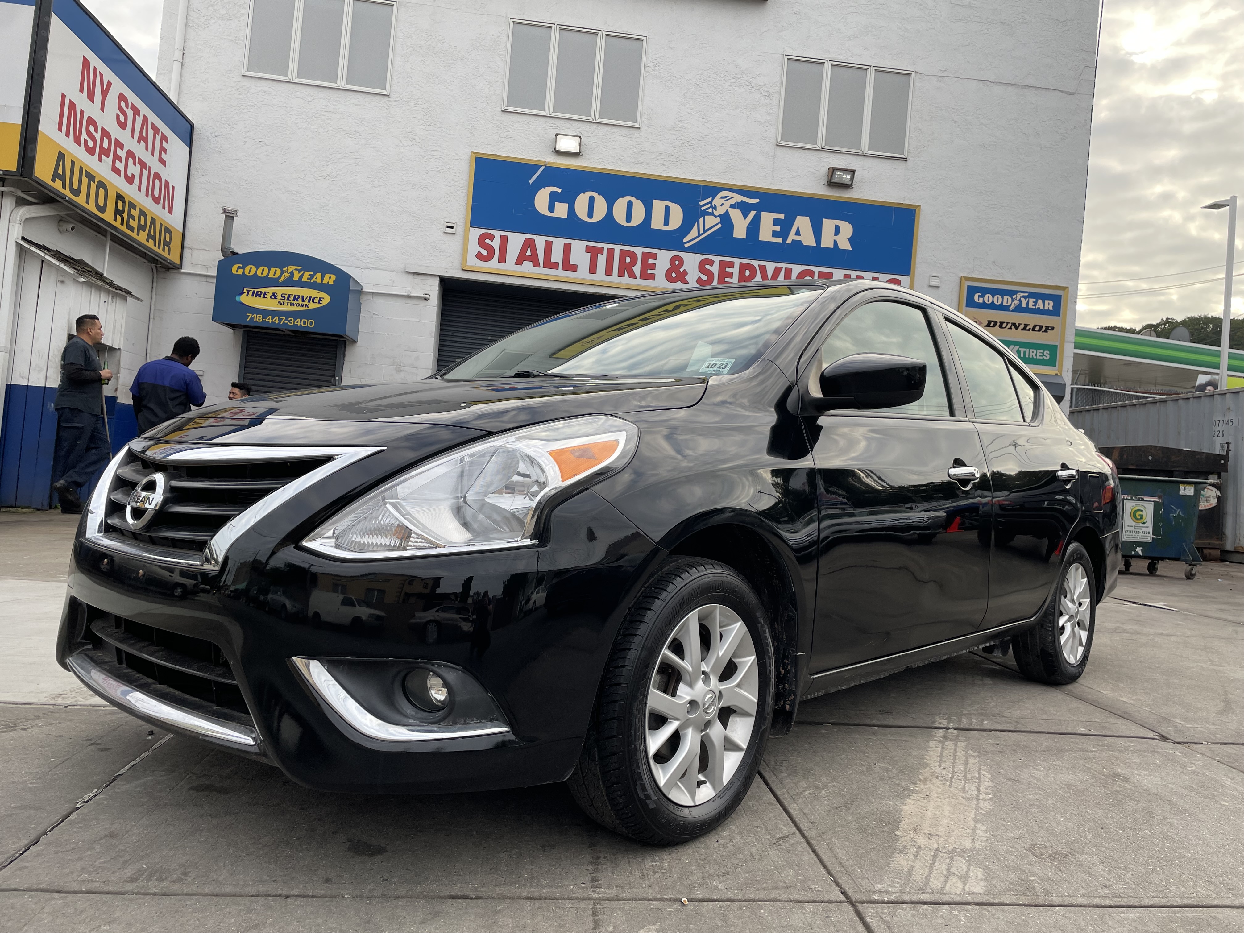
<path id="1" fill-rule="evenodd" d="M 873 301 L 861 305 L 838 323 L 821 345 L 821 366 L 814 368 L 814 379 L 830 363 L 855 353 L 893 353 L 921 360 L 928 366 L 924 396 L 918 402 L 881 411 L 896 414 L 950 415 L 945 394 L 945 376 L 937 345 L 924 312 L 896 301 Z"/>

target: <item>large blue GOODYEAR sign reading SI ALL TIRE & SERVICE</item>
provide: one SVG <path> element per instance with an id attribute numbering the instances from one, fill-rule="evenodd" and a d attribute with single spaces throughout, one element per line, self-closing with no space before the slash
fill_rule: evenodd
<path id="1" fill-rule="evenodd" d="M 911 285 L 919 208 L 471 154 L 463 269 L 631 289 Z"/>

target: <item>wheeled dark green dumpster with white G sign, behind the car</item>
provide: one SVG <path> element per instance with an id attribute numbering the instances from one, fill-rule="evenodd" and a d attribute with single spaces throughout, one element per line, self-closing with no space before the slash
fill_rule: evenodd
<path id="1" fill-rule="evenodd" d="M 1158 561 L 1183 561 L 1183 575 L 1192 580 L 1200 565 L 1197 550 L 1197 519 L 1200 496 L 1209 483 L 1167 476 L 1118 478 L 1123 506 L 1123 572 L 1132 560 L 1147 560 L 1149 573 Z"/>

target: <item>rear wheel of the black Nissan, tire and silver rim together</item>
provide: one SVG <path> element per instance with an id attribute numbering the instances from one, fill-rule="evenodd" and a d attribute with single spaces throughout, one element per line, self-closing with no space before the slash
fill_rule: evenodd
<path id="1" fill-rule="evenodd" d="M 1041 620 L 1015 636 L 1011 649 L 1029 680 L 1064 684 L 1079 680 L 1088 664 L 1097 621 L 1097 578 L 1084 545 L 1067 546 L 1059 581 Z M 1074 597 L 1074 598 L 1072 598 Z M 1074 605 L 1075 611 L 1069 612 Z M 1069 627 L 1075 631 L 1069 632 Z"/>

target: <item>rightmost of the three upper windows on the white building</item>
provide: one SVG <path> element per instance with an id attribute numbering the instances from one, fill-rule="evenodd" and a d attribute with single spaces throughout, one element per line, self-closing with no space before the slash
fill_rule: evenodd
<path id="1" fill-rule="evenodd" d="M 907 157 L 912 73 L 786 58 L 778 142 Z"/>

